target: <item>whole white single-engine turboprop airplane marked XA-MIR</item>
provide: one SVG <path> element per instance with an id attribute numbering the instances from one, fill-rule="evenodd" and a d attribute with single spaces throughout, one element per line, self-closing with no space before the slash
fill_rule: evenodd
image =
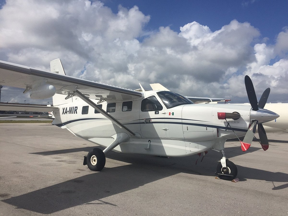
<path id="1" fill-rule="evenodd" d="M 54 106 L 45 108 L 53 110 L 52 124 L 105 147 L 103 151 L 94 148 L 84 156 L 83 164 L 93 171 L 104 168 L 105 154 L 111 150 L 176 157 L 213 149 L 222 154 L 216 174 L 232 180 L 237 167 L 226 158 L 225 141 L 246 134 L 241 142 L 242 150 L 246 150 L 258 125 L 266 150 L 268 140 L 262 123 L 279 117 L 263 109 L 269 93 L 257 103 L 248 76 L 245 85 L 251 106 L 193 104 L 168 90 L 145 91 L 140 85 L 141 90 L 134 91 L 67 76 L 60 59 L 50 62 L 50 68 L 51 72 L 46 72 L 0 61 L 0 84 L 23 88 L 33 99 L 53 97 Z"/>

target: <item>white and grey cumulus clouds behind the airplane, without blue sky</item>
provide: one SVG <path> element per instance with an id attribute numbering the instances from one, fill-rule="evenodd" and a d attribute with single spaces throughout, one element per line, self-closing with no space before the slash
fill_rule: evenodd
<path id="1" fill-rule="evenodd" d="M 214 32 L 195 21 L 179 26 L 179 33 L 168 26 L 146 32 L 150 16 L 137 6 L 119 6 L 114 14 L 88 0 L 9 0 L 0 20 L 1 60 L 49 70 L 49 62 L 60 58 L 70 76 L 130 89 L 159 82 L 187 96 L 235 103 L 248 102 L 249 75 L 257 95 L 272 87 L 271 102 L 288 99 L 287 28 L 275 44 L 237 20 Z"/>

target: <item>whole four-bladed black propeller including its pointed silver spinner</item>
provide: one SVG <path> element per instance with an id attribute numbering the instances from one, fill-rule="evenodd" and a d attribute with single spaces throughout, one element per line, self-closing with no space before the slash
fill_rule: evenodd
<path id="1" fill-rule="evenodd" d="M 256 132 L 256 126 L 258 125 L 257 128 L 258 128 L 260 144 L 263 150 L 266 151 L 269 147 L 269 143 L 268 143 L 268 138 L 267 138 L 267 135 L 266 135 L 266 132 L 264 130 L 262 123 L 274 120 L 278 118 L 279 115 L 272 111 L 263 109 L 267 102 L 267 99 L 270 93 L 270 88 L 267 88 L 263 92 L 258 103 L 253 83 L 250 77 L 247 75 L 245 76 L 245 87 L 246 87 L 249 102 L 252 107 L 252 110 L 250 112 L 250 120 L 253 122 L 253 124 L 248 129 L 243 141 L 240 141 L 241 149 L 242 151 L 246 151 L 250 147 L 253 137 Z"/>

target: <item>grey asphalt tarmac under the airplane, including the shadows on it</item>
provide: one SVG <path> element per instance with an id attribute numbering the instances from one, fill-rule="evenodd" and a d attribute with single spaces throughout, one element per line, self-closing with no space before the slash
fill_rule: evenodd
<path id="1" fill-rule="evenodd" d="M 288 132 L 269 149 L 226 142 L 239 182 L 215 179 L 221 154 L 160 158 L 110 151 L 83 166 L 93 143 L 51 124 L 0 124 L 0 215 L 288 215 Z"/>

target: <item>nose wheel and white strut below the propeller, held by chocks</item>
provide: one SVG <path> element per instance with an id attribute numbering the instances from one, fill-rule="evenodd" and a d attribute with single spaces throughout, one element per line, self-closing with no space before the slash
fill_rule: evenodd
<path id="1" fill-rule="evenodd" d="M 221 150 L 220 152 L 223 157 L 221 158 L 221 161 L 217 165 L 215 174 L 218 175 L 220 179 L 232 181 L 237 176 L 238 173 L 237 167 L 233 162 L 231 162 L 230 160 L 228 160 L 228 158 L 225 157 L 224 149 Z"/>

